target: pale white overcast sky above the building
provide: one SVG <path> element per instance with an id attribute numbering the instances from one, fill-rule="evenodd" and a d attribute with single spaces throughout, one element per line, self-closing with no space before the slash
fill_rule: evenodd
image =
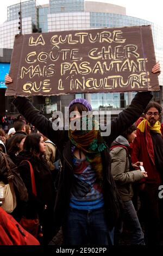
<path id="1" fill-rule="evenodd" d="M 93 1 L 93 0 L 89 0 Z M 22 0 L 24 2 L 24 0 Z M 138 17 L 140 19 L 145 19 L 152 21 L 163 27 L 163 1 L 162 0 L 94 0 L 94 2 L 105 2 L 121 5 L 126 7 L 126 13 L 129 16 Z M 7 20 L 7 7 L 12 4 L 20 3 L 19 0 L 1 0 L 0 2 L 0 24 Z M 39 4 L 49 3 L 48 0 L 37 0 Z"/>

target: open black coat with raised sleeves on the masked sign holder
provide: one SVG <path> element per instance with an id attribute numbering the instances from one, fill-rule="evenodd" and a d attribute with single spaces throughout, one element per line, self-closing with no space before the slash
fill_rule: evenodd
<path id="1" fill-rule="evenodd" d="M 129 107 L 124 109 L 117 118 L 111 121 L 110 135 L 104 137 L 108 148 L 116 137 L 132 125 L 142 114 L 152 95 L 149 92 L 137 93 L 131 101 Z M 71 142 L 68 139 L 67 131 L 55 131 L 52 127 L 52 122 L 45 118 L 40 111 L 34 108 L 32 103 L 25 97 L 17 97 L 14 104 L 18 111 L 32 123 L 43 135 L 49 138 L 57 145 L 62 153 L 62 172 L 60 174 L 57 199 L 55 202 L 55 229 L 56 231 L 64 221 L 66 210 L 70 203 L 70 194 L 73 184 L 73 167 Z M 103 163 L 103 196 L 106 220 L 110 229 L 115 226 L 118 217 L 120 216 L 120 205 L 115 183 L 111 175 L 111 158 L 109 149 L 102 152 Z"/>

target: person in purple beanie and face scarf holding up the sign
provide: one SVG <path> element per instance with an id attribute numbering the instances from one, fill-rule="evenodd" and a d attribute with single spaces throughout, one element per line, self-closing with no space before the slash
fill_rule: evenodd
<path id="1" fill-rule="evenodd" d="M 159 64 L 154 72 L 160 72 Z M 7 75 L 5 82 L 12 79 Z M 95 129 L 96 120 L 85 99 L 70 102 L 69 130 L 53 129 L 53 123 L 26 97 L 14 100 L 18 111 L 60 151 L 62 169 L 54 207 L 54 234 L 62 227 L 64 245 L 114 244 L 114 228 L 120 222 L 122 205 L 111 175 L 109 148 L 140 117 L 151 99 L 150 92 L 137 93 L 131 104 L 111 120 L 110 135 L 104 137 Z M 75 123 L 79 129 L 73 129 Z"/>

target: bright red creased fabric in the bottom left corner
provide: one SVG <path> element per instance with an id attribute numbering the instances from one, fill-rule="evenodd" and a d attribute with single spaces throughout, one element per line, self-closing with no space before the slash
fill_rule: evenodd
<path id="1" fill-rule="evenodd" d="M 40 243 L 0 207 L 0 245 L 40 245 Z"/>

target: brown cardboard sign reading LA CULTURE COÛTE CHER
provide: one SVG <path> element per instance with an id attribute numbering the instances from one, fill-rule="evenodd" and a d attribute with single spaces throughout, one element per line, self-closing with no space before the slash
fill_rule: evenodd
<path id="1" fill-rule="evenodd" d="M 16 35 L 6 95 L 159 90 L 151 26 Z"/>

